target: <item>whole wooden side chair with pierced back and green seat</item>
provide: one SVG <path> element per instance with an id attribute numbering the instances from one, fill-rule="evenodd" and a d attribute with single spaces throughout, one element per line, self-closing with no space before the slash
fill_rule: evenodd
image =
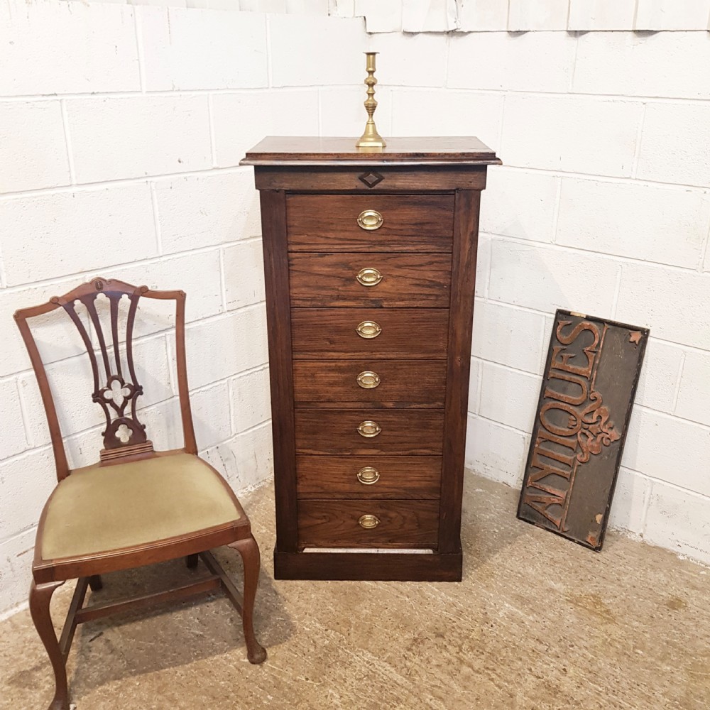
<path id="1" fill-rule="evenodd" d="M 105 308 L 97 310 L 100 294 L 108 299 L 104 303 L 109 307 L 108 314 Z M 143 388 L 133 364 L 133 327 L 141 298 L 175 301 L 175 352 L 185 446 L 174 451 L 154 451 L 146 437 L 146 425 L 138 419 L 136 402 Z M 121 299 L 127 302 L 121 303 Z M 67 464 L 47 373 L 28 325 L 28 319 L 58 308 L 67 312 L 79 330 L 91 362 L 92 400 L 106 417 L 99 461 L 73 470 Z M 119 310 L 124 314 L 120 318 Z M 96 349 L 84 324 L 86 314 Z M 110 333 L 102 329 L 102 315 L 110 321 Z M 197 456 L 187 390 L 185 293 L 153 291 L 147 286 L 94 278 L 43 305 L 18 310 L 15 320 L 39 384 L 58 478 L 40 517 L 30 589 L 31 616 L 55 674 L 50 710 L 69 710 L 66 660 L 77 624 L 152 603 L 222 589 L 241 613 L 249 661 L 263 662 L 266 650 L 256 640 L 252 623 L 259 548 L 251 535 L 249 518 L 231 488 Z M 123 320 L 125 332 L 119 332 L 123 329 L 119 329 L 119 321 Z M 107 346 L 109 338 L 111 345 Z M 234 547 L 241 555 L 244 597 L 209 552 L 220 545 Z M 185 557 L 187 567 L 196 567 L 198 557 L 202 558 L 209 577 L 158 594 L 84 606 L 87 586 L 92 591 L 101 589 L 100 575 L 104 572 L 178 557 Z M 50 599 L 55 589 L 75 578 L 76 590 L 58 640 L 50 616 Z"/>

